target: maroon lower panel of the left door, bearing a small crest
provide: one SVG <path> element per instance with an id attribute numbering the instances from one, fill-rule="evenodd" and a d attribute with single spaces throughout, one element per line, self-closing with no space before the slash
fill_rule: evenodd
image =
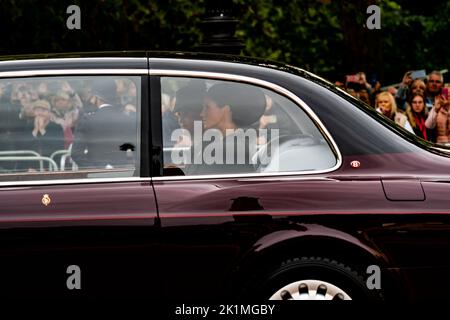
<path id="1" fill-rule="evenodd" d="M 41 204 L 42 194 L 50 205 Z M 0 198 L 3 298 L 106 299 L 152 288 L 150 181 L 2 188 Z M 81 292 L 66 287 L 70 265 L 81 268 Z"/>

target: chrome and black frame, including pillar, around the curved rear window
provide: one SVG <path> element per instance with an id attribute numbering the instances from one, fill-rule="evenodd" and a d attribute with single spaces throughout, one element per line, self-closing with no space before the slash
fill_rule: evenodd
<path id="1" fill-rule="evenodd" d="M 333 137 L 322 123 L 320 118 L 314 113 L 314 111 L 309 107 L 300 97 L 294 94 L 292 91 L 277 85 L 275 83 L 262 80 L 255 77 L 249 77 L 244 75 L 238 75 L 234 73 L 226 72 L 209 72 L 209 71 L 192 71 L 192 70 L 178 70 L 178 69 L 157 69 L 150 68 L 150 82 L 154 83 L 154 88 L 159 89 L 158 94 L 161 96 L 161 77 L 180 77 L 180 78 L 203 78 L 211 80 L 222 80 L 222 81 L 234 81 L 241 82 L 249 85 L 255 85 L 262 87 L 267 90 L 271 90 L 277 94 L 282 95 L 286 99 L 293 102 L 297 107 L 301 108 L 303 112 L 310 118 L 314 123 L 317 130 L 323 135 L 324 139 L 328 143 L 329 148 L 336 158 L 336 164 L 328 169 L 322 170 L 308 170 L 308 171 L 286 171 L 286 172 L 259 172 L 259 173 L 235 173 L 235 174 L 213 174 L 213 175 L 190 175 L 190 176 L 164 176 L 163 175 L 163 152 L 162 152 L 162 116 L 161 116 L 161 100 L 153 99 L 152 97 L 152 114 L 159 115 L 159 125 L 154 126 L 154 129 L 158 130 L 155 132 L 155 136 L 159 136 L 158 143 L 158 162 L 159 170 L 152 176 L 154 181 L 170 181 L 170 180 L 207 180 L 207 179 L 227 179 L 227 178 L 263 178 L 263 177 L 278 177 L 278 176 L 304 176 L 304 175 L 317 175 L 324 174 L 338 170 L 343 163 L 342 153 L 340 152 L 338 145 L 334 141 Z M 157 83 L 156 83 L 157 82 Z M 153 91 L 154 92 L 154 91 Z M 152 94 L 155 96 L 155 94 Z M 154 110 L 159 110 L 156 112 Z M 155 113 L 154 113 L 155 112 Z M 155 117 L 153 117 L 155 119 Z M 154 154 L 156 155 L 156 154 Z"/>

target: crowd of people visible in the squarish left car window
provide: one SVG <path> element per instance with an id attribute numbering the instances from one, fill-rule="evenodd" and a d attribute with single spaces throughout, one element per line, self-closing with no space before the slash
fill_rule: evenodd
<path id="1" fill-rule="evenodd" d="M 0 81 L 0 153 L 51 157 L 70 148 L 80 168 L 112 166 L 122 157 L 112 144 L 135 144 L 136 103 L 136 85 L 125 78 Z M 0 163 L 3 172 L 37 169 L 33 160 Z"/>

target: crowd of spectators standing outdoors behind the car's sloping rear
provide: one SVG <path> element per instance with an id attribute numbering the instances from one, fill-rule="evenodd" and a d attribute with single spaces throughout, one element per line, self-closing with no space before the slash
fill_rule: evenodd
<path id="1" fill-rule="evenodd" d="M 416 74 L 406 72 L 398 86 L 384 91 L 379 82 L 374 86 L 369 84 L 364 72 L 347 76 L 345 83 L 336 84 L 418 137 L 447 144 L 450 142 L 450 100 L 443 74 L 432 71 L 417 78 Z"/>

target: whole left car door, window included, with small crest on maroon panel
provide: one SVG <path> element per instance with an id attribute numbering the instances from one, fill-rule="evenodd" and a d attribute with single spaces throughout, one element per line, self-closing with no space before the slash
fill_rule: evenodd
<path id="1" fill-rule="evenodd" d="M 9 143 L 0 151 L 2 299 L 158 296 L 158 216 L 142 61 L 136 70 L 116 64 L 112 71 L 49 70 L 45 77 L 0 79 L 10 88 L 8 116 L 17 120 L 2 131 Z M 42 101 L 52 112 L 44 131 L 37 114 L 45 120 L 47 110 L 33 112 L 46 108 Z M 54 135 L 44 147 L 55 147 L 40 148 L 38 139 L 49 132 Z"/>

